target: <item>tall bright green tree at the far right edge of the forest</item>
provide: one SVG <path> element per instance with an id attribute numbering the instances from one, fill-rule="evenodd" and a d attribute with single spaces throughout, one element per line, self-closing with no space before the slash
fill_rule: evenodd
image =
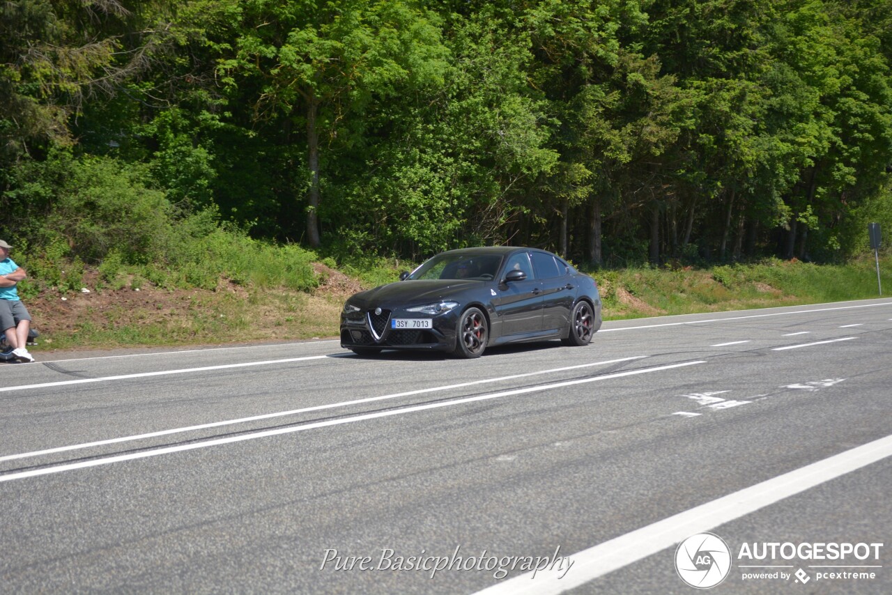
<path id="1" fill-rule="evenodd" d="M 863 22 L 833 4 L 784 4 L 772 51 L 785 73 L 784 90 L 797 103 L 780 112 L 779 129 L 798 153 L 782 255 L 849 252 L 839 229 L 860 202 L 878 194 L 892 161 L 892 93 L 880 41 Z M 795 111 L 799 115 L 789 112 Z M 811 233 L 810 233 L 811 232 Z M 813 250 L 810 250 L 809 247 Z"/>

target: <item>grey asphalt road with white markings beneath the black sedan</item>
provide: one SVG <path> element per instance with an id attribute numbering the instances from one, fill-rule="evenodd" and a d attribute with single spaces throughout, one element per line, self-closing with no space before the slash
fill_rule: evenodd
<path id="1" fill-rule="evenodd" d="M 892 300 L 0 377 L 0 592 L 892 592 Z"/>

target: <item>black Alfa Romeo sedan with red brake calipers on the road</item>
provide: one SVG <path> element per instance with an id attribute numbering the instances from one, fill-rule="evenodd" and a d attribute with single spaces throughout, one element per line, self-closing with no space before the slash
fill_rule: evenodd
<path id="1" fill-rule="evenodd" d="M 351 296 L 341 346 L 363 355 L 414 349 L 478 358 L 505 343 L 586 345 L 600 326 L 598 285 L 565 260 L 532 248 L 465 248 Z"/>

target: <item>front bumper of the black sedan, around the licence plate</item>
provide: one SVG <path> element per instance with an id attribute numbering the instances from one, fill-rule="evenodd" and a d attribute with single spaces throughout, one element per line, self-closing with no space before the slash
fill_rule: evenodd
<path id="1" fill-rule="evenodd" d="M 409 330 L 391 328 L 392 318 L 431 318 L 431 328 Z M 405 310 L 374 310 L 341 313 L 341 346 L 372 347 L 382 349 L 415 349 L 452 351 L 455 349 L 455 329 L 458 313 L 453 311 L 439 316 L 419 316 Z"/>

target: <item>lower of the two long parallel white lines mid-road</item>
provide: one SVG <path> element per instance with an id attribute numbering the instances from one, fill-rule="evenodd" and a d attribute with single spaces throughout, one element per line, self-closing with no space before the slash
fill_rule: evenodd
<path id="1" fill-rule="evenodd" d="M 697 361 L 686 361 L 681 364 L 672 364 L 668 366 L 657 366 L 656 368 L 640 368 L 635 370 L 627 370 L 625 372 L 615 372 L 613 374 L 605 374 L 604 376 L 595 376 L 593 378 L 582 378 L 578 380 L 567 380 L 565 382 L 558 382 L 554 384 L 542 384 L 540 386 L 527 386 L 525 388 L 513 389 L 510 391 L 501 391 L 500 393 L 489 393 L 489 394 L 481 394 L 475 397 L 467 397 L 464 399 L 455 399 L 452 401 L 438 401 L 434 403 L 425 403 L 423 405 L 414 405 L 411 407 L 404 407 L 401 409 L 389 409 L 386 411 L 376 411 L 375 413 L 366 413 L 353 417 L 341 417 L 339 419 L 327 419 L 326 421 L 319 421 L 310 424 L 305 424 L 302 426 L 291 426 L 291 427 L 279 427 L 274 430 L 263 430 L 260 432 L 252 432 L 251 434 L 240 434 L 237 436 L 227 436 L 226 438 L 216 438 L 212 440 L 205 440 L 202 442 L 191 442 L 189 444 L 179 444 L 177 446 L 169 446 L 161 449 L 155 450 L 145 450 L 142 452 L 131 452 L 125 455 L 117 455 L 113 457 L 105 457 L 103 459 L 92 459 L 80 461 L 78 463 L 68 463 L 62 465 L 56 465 L 53 467 L 42 467 L 39 469 L 31 469 L 29 471 L 21 471 L 19 473 L 10 473 L 6 475 L 0 475 L 0 482 L 10 482 L 15 479 L 24 479 L 26 477 L 36 477 L 38 475 L 50 475 L 54 473 L 62 473 L 63 471 L 73 471 L 75 469 L 84 469 L 87 467 L 99 467 L 100 465 L 110 465 L 111 463 L 119 463 L 122 461 L 128 460 L 136 460 L 136 459 L 148 459 L 149 457 L 158 457 L 160 455 L 171 454 L 174 452 L 183 452 L 185 450 L 195 450 L 195 449 L 204 449 L 209 448 L 211 446 L 220 446 L 223 444 L 232 444 L 234 442 L 244 442 L 248 440 L 257 440 L 259 438 L 266 438 L 268 436 L 278 436 L 282 434 L 294 434 L 296 432 L 304 432 L 306 430 L 313 430 L 320 427 L 330 427 L 330 426 L 342 426 L 344 424 L 351 424 L 359 421 L 368 421 L 370 419 L 379 419 L 381 417 L 392 417 L 405 415 L 407 413 L 414 413 L 416 411 L 428 411 L 432 409 L 441 409 L 443 407 L 454 407 L 456 405 L 464 405 L 466 403 L 473 403 L 477 401 L 489 401 L 491 399 L 500 399 L 501 397 L 509 397 L 516 394 L 526 394 L 526 393 L 540 393 L 542 391 L 549 391 L 552 389 L 563 388 L 565 386 L 574 386 L 576 384 L 588 384 L 592 382 L 599 382 L 601 380 L 609 380 L 612 378 L 622 378 L 624 376 L 637 376 L 640 374 L 649 374 L 651 372 L 661 372 L 663 370 L 669 370 L 674 368 L 685 368 L 688 366 L 696 366 L 698 364 L 705 364 L 705 360 L 697 360 Z"/>

